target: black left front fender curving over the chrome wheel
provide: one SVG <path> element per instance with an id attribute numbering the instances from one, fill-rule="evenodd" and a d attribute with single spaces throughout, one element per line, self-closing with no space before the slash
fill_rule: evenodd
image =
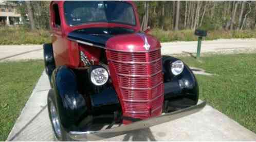
<path id="1" fill-rule="evenodd" d="M 75 73 L 67 66 L 53 70 L 51 77 L 54 101 L 62 126 L 67 130 L 76 130 L 78 123 L 86 116 L 86 100 L 78 92 Z"/>

